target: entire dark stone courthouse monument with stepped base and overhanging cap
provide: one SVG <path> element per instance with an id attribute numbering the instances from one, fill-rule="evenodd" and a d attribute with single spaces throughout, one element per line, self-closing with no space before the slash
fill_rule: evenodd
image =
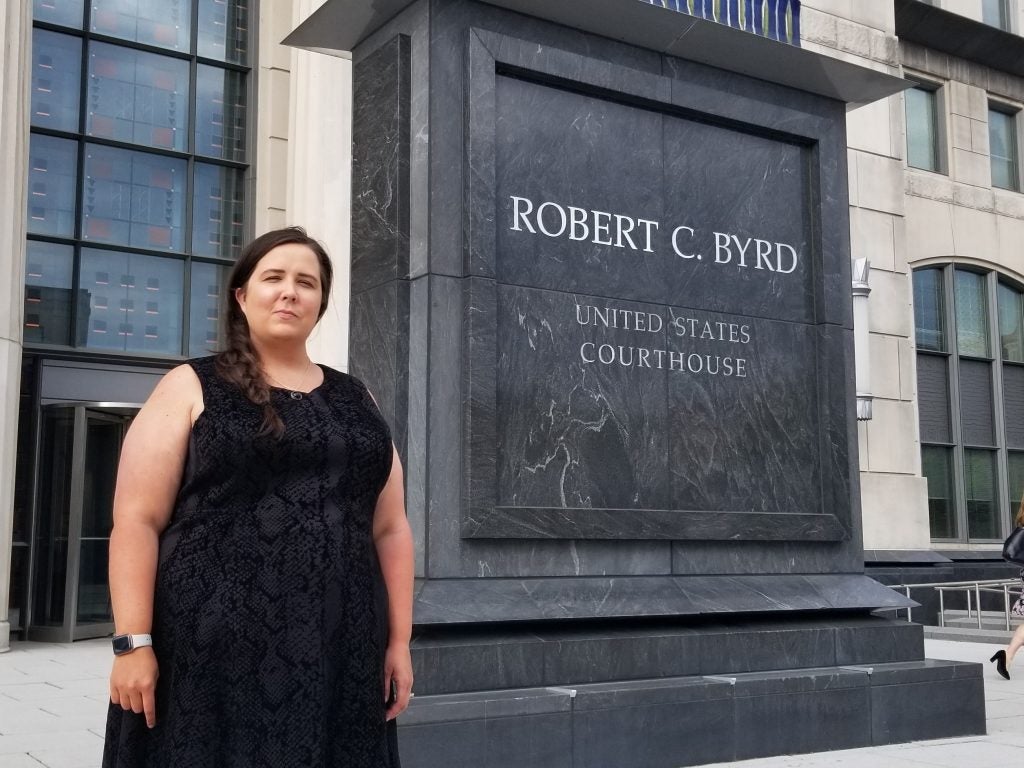
<path id="1" fill-rule="evenodd" d="M 983 732 L 980 668 L 924 659 L 863 574 L 845 114 L 903 83 L 638 0 L 369 6 L 289 42 L 354 61 L 351 369 L 418 543 L 406 764 Z"/>

